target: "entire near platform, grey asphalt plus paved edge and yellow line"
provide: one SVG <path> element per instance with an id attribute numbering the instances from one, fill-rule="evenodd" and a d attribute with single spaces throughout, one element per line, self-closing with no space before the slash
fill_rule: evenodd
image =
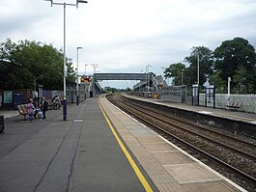
<path id="1" fill-rule="evenodd" d="M 7 119 L 0 191 L 245 191 L 104 96 L 49 110 L 46 121 Z"/>

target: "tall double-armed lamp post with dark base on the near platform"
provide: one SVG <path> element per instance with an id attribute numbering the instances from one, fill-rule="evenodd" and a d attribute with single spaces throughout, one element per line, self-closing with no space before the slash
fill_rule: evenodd
<path id="1" fill-rule="evenodd" d="M 63 6 L 64 9 L 64 42 L 63 42 L 63 65 L 64 65 L 64 75 L 63 75 L 63 120 L 67 121 L 67 99 L 66 99 L 66 77 L 67 77 L 67 65 L 66 65 L 66 6 L 76 6 L 78 8 L 79 3 L 88 3 L 83 0 L 76 0 L 76 4 L 70 3 L 54 3 L 53 0 L 44 0 L 50 1 L 52 5 Z"/>

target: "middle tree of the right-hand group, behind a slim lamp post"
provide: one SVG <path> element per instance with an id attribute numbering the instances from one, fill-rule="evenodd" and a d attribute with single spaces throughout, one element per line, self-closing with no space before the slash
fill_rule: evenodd
<path id="1" fill-rule="evenodd" d="M 193 47 L 190 56 L 185 57 L 185 61 L 189 63 L 189 67 L 185 71 L 189 85 L 197 84 L 198 55 L 199 85 L 203 85 L 213 74 L 213 51 L 205 46 Z"/>

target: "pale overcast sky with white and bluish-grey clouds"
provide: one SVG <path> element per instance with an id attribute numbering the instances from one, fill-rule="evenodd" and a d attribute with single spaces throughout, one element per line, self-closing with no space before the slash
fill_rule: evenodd
<path id="1" fill-rule="evenodd" d="M 75 4 L 76 0 L 53 0 Z M 63 47 L 63 6 L 43 0 L 1 0 L 0 41 L 28 40 Z M 67 6 L 67 57 L 79 73 L 97 64 L 98 72 L 162 74 L 182 62 L 193 46 L 214 50 L 222 41 L 241 37 L 256 47 L 255 0 L 88 0 Z M 93 67 L 86 68 L 87 73 Z M 135 82 L 104 85 L 130 87 Z M 132 85 L 131 85 L 132 86 Z"/>

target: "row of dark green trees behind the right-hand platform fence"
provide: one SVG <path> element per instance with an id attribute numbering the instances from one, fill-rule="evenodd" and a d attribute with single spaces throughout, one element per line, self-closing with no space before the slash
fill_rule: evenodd
<path id="1" fill-rule="evenodd" d="M 173 85 L 181 85 L 182 79 L 184 85 L 197 84 L 198 55 L 201 86 L 209 79 L 216 93 L 227 93 L 227 80 L 231 77 L 232 93 L 256 93 L 255 49 L 242 38 L 223 41 L 214 51 L 204 46 L 193 47 L 190 56 L 185 57 L 188 66 L 172 64 L 165 69 L 164 77 L 172 77 Z"/>

